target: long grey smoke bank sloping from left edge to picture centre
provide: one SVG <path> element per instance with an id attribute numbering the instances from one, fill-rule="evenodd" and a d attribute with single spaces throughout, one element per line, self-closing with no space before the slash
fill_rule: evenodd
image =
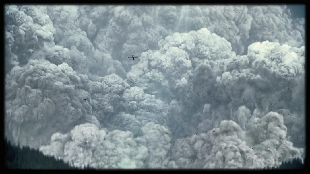
<path id="1" fill-rule="evenodd" d="M 139 134 L 148 121 L 165 125 L 169 113 L 169 105 L 116 74 L 92 81 L 67 63 L 29 60 L 6 79 L 6 136 L 21 145 L 40 147 L 85 121 Z"/>

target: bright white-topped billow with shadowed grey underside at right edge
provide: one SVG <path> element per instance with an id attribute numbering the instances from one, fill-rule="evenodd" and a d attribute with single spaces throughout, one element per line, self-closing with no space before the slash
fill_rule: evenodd
<path id="1" fill-rule="evenodd" d="M 305 143 L 302 138 L 305 135 L 304 99 L 301 97 L 304 96 L 304 49 L 304 46 L 296 48 L 268 41 L 257 42 L 249 46 L 247 59 L 241 59 L 241 56 L 225 62 L 226 72 L 217 77 L 216 85 L 225 89 L 224 94 L 231 98 L 228 104 L 231 117 L 240 117 L 241 105 L 253 114 L 255 109 L 260 115 L 278 111 L 284 115 L 289 136 L 293 137 L 296 146 L 302 147 Z M 238 112 L 234 113 L 237 108 Z M 245 112 L 244 120 L 249 120 L 249 113 Z M 292 123 L 290 119 L 296 121 Z M 297 134 L 301 136 L 295 136 Z"/>

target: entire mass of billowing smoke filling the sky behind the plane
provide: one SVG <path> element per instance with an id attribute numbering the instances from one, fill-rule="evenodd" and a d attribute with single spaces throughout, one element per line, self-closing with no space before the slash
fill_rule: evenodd
<path id="1" fill-rule="evenodd" d="M 285 5 L 4 10 L 16 144 L 97 169 L 305 158 L 305 19 Z"/>

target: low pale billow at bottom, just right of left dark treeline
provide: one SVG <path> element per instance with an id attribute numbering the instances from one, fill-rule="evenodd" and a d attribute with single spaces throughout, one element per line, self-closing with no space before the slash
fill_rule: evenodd
<path id="1" fill-rule="evenodd" d="M 95 124 L 75 126 L 69 133 L 55 133 L 44 154 L 54 155 L 77 167 L 141 168 L 148 153 L 129 131 L 99 129 Z"/>

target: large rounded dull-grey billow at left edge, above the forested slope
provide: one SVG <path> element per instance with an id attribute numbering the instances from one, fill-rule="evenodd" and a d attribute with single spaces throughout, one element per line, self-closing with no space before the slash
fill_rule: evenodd
<path id="1" fill-rule="evenodd" d="M 14 67 L 6 79 L 5 133 L 21 145 L 40 147 L 55 131 L 69 131 L 92 118 L 90 94 L 83 89 L 88 78 L 67 63 L 29 60 Z"/>

